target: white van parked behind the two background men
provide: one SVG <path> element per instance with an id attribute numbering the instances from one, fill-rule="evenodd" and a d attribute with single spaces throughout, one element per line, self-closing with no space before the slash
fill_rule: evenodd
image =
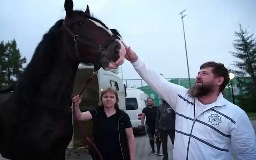
<path id="1" fill-rule="evenodd" d="M 136 88 L 127 88 L 126 92 L 126 113 L 131 119 L 132 128 L 134 131 L 146 134 L 146 129 L 141 127 L 141 115 L 143 108 L 146 107 L 147 95 L 142 90 Z"/>

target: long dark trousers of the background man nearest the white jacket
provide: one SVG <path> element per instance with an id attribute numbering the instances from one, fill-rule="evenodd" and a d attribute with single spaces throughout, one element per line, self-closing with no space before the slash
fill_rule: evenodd
<path id="1" fill-rule="evenodd" d="M 171 139 L 171 143 L 174 143 L 175 130 L 162 130 L 159 129 L 160 137 L 162 139 L 162 154 L 164 156 L 164 160 L 168 160 L 168 152 L 167 152 L 167 141 L 168 135 Z"/>

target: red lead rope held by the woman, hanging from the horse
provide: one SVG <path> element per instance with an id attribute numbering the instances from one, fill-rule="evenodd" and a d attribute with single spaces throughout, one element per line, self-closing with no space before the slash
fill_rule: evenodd
<path id="1" fill-rule="evenodd" d="M 79 96 L 81 96 L 81 94 L 83 93 L 83 91 L 85 90 L 85 88 L 87 87 L 87 85 L 92 81 L 92 78 L 93 78 L 93 76 L 94 76 L 95 74 L 97 74 L 97 72 L 92 73 L 92 75 L 90 75 L 90 77 L 87 79 L 87 82 L 85 83 L 85 86 L 84 86 L 83 89 L 81 90 Z M 72 106 L 74 106 L 74 103 L 72 104 Z M 76 114 L 74 114 L 74 112 L 73 112 L 73 115 L 74 115 L 75 120 L 78 122 L 78 125 L 79 125 L 79 127 L 80 127 L 80 129 L 81 129 L 81 131 L 82 131 L 83 137 L 85 138 L 85 142 L 87 142 L 88 144 L 90 144 L 89 146 L 93 146 L 94 149 L 95 149 L 95 151 L 97 152 L 97 155 L 99 156 L 99 159 L 100 159 L 100 160 L 103 160 L 102 155 L 101 155 L 101 153 L 99 152 L 97 146 L 90 140 L 90 138 L 88 138 L 88 136 L 87 136 L 87 134 L 86 134 L 86 132 L 85 132 L 85 129 L 83 128 L 81 122 L 80 122 L 79 120 L 77 120 Z"/>

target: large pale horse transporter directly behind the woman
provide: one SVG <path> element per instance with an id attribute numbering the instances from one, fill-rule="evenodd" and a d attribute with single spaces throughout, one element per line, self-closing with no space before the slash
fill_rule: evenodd
<path id="1" fill-rule="evenodd" d="M 79 94 L 85 83 L 87 78 L 92 74 L 94 66 L 79 66 L 78 71 L 76 73 L 74 89 L 72 97 L 76 94 Z M 94 109 L 100 100 L 100 92 L 108 87 L 112 87 L 113 89 L 117 90 L 118 98 L 119 98 L 119 108 L 120 110 L 125 110 L 125 96 L 126 96 L 126 88 L 123 84 L 122 79 L 115 73 L 111 71 L 105 71 L 102 68 L 98 71 L 97 75 L 94 75 L 92 81 L 87 85 L 86 89 L 84 90 L 82 96 L 83 99 L 80 104 L 81 112 L 88 111 Z M 73 115 L 72 115 L 73 116 Z M 72 137 L 72 142 L 69 147 L 74 146 L 85 146 L 84 144 L 84 137 L 82 136 L 81 129 L 78 126 L 78 123 L 72 118 L 73 126 L 74 126 L 74 133 Z M 92 137 L 92 121 L 80 121 L 83 125 L 84 129 L 86 130 L 88 137 Z"/>

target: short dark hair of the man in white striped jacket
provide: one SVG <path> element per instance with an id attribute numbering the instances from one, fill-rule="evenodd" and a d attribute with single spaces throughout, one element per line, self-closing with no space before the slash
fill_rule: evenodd
<path id="1" fill-rule="evenodd" d="M 212 68 L 212 73 L 214 74 L 215 77 L 223 77 L 224 78 L 223 83 L 219 87 L 219 91 L 222 92 L 225 89 L 226 85 L 230 82 L 228 69 L 222 63 L 216 63 L 214 61 L 209 61 L 207 63 L 203 63 L 200 66 L 200 70 L 203 68 L 207 68 L 207 67 Z"/>

